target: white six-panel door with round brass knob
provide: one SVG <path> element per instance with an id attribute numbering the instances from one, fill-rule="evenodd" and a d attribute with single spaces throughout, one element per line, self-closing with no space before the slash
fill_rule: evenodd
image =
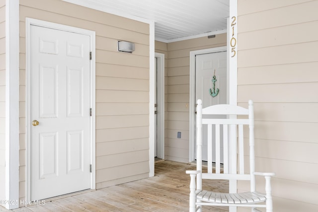
<path id="1" fill-rule="evenodd" d="M 30 194 L 41 200 L 90 188 L 90 37 L 32 25 L 30 39 Z"/>

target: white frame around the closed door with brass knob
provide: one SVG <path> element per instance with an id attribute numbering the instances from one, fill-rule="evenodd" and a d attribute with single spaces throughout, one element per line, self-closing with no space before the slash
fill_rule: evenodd
<path id="1" fill-rule="evenodd" d="M 90 173 L 90 189 L 95 189 L 95 32 L 91 30 L 81 29 L 77 27 L 71 27 L 63 24 L 57 24 L 52 22 L 47 22 L 43 20 L 37 20 L 33 18 L 26 18 L 26 169 L 25 169 L 25 177 L 26 177 L 26 185 L 25 185 L 25 192 L 26 192 L 26 200 L 31 201 L 31 117 L 30 117 L 30 105 L 31 105 L 31 60 L 30 60 L 30 52 L 31 52 L 31 44 L 30 44 L 30 37 L 31 37 L 31 25 L 48 27 L 51 29 L 58 29 L 68 32 L 79 33 L 83 35 L 88 35 L 90 37 L 90 51 L 92 52 L 92 58 L 90 62 L 90 107 L 92 109 L 92 114 L 90 118 L 90 164 L 91 164 L 91 173 Z"/>

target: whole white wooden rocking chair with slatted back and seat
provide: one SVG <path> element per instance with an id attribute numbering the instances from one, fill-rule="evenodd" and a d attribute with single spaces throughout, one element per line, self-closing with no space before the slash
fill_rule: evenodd
<path id="1" fill-rule="evenodd" d="M 190 174 L 190 212 L 201 212 L 202 206 L 233 206 L 250 207 L 252 212 L 256 208 L 266 208 L 266 212 L 273 212 L 270 178 L 274 173 L 255 172 L 254 170 L 254 114 L 253 101 L 249 100 L 248 109 L 233 105 L 213 105 L 202 109 L 202 101 L 197 101 L 197 170 L 186 171 Z M 206 115 L 248 115 L 248 119 L 215 119 L 202 118 Z M 233 117 L 233 116 L 232 116 Z M 241 116 L 240 116 L 241 117 Z M 239 118 L 240 118 L 239 117 Z M 208 171 L 202 173 L 202 125 L 208 127 Z M 244 141 L 243 126 L 249 127 L 249 173 L 244 170 Z M 214 126 L 214 127 L 212 127 Z M 223 127 L 222 127 L 223 126 Z M 223 130 L 222 130 L 223 129 Z M 245 129 L 246 130 L 246 129 Z M 223 132 L 222 132 L 223 131 Z M 231 132 L 237 136 L 230 136 Z M 213 134 L 213 135 L 212 135 Z M 234 134 L 236 135 L 236 133 Z M 223 139 L 222 139 L 223 137 Z M 215 149 L 212 149 L 215 140 Z M 223 141 L 222 141 L 223 140 Z M 220 145 L 223 142 L 223 173 L 221 172 Z M 237 163 L 239 153 L 239 163 Z M 212 171 L 212 154 L 215 154 L 215 173 Z M 238 166 L 238 167 L 237 167 Z M 239 169 L 237 171 L 237 168 Z M 255 175 L 265 177 L 265 192 L 256 191 Z M 250 192 L 217 193 L 202 188 L 202 179 L 221 180 L 249 180 Z M 262 203 L 262 204 L 260 204 Z"/>

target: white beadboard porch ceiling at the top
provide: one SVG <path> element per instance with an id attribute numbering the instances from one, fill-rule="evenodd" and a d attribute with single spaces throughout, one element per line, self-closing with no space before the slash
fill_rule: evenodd
<path id="1" fill-rule="evenodd" d="M 155 39 L 173 42 L 224 33 L 229 0 L 65 0 L 155 21 Z"/>

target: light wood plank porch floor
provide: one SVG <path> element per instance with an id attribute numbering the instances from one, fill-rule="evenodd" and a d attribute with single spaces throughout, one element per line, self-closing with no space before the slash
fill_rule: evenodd
<path id="1" fill-rule="evenodd" d="M 45 205 L 22 207 L 13 212 L 186 212 L 189 204 L 189 175 L 195 165 L 173 161 L 155 163 L 155 177 L 96 191 L 46 201 Z M 205 186 L 228 192 L 227 181 Z M 0 207 L 0 211 L 8 211 Z M 226 212 L 228 208 L 203 207 L 205 212 Z"/>

